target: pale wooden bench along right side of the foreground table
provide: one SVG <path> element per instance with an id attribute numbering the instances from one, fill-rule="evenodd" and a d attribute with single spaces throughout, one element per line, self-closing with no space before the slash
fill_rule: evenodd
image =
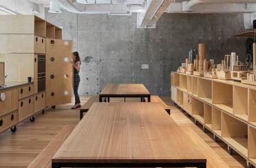
<path id="1" fill-rule="evenodd" d="M 192 128 L 187 125 L 180 126 L 184 133 L 189 136 L 189 139 L 200 146 L 201 153 L 206 157 L 207 168 L 222 167 L 228 168 L 229 166 L 217 155 L 209 145 L 207 145 L 201 138 L 196 134 Z"/>

